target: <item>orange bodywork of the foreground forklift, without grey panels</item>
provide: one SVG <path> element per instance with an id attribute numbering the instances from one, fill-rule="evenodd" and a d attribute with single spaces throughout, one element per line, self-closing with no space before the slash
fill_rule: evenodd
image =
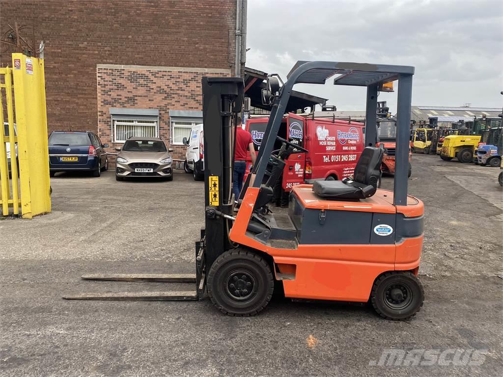
<path id="1" fill-rule="evenodd" d="M 259 194 L 248 187 L 230 231 L 233 242 L 271 255 L 281 273 L 285 296 L 290 298 L 366 302 L 375 279 L 392 270 L 414 270 L 419 266 L 423 236 L 406 238 L 399 244 L 299 244 L 296 249 L 280 249 L 259 242 L 246 228 Z M 406 217 L 422 216 L 424 205 L 413 197 L 407 206 L 393 206 L 393 193 L 377 190 L 371 198 L 358 202 L 323 200 L 312 192 L 312 185 L 293 189 L 305 208 L 402 213 Z M 415 270 L 417 271 L 417 270 Z M 283 277 L 288 276 L 288 277 Z"/>

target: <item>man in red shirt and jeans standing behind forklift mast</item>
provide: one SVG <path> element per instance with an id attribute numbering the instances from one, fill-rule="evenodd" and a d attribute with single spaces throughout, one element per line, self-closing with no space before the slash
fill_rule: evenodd
<path id="1" fill-rule="evenodd" d="M 249 132 L 244 131 L 241 125 L 241 118 L 237 117 L 236 142 L 234 150 L 234 176 L 232 179 L 232 192 L 234 200 L 239 198 L 239 193 L 243 187 L 244 172 L 246 171 L 246 152 L 250 152 L 251 163 L 255 165 L 257 156 L 253 146 L 253 140 Z"/>

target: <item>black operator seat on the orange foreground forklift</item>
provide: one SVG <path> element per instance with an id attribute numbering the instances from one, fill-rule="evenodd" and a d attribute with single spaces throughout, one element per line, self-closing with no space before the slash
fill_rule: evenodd
<path id="1" fill-rule="evenodd" d="M 318 197 L 330 200 L 360 200 L 370 198 L 377 191 L 381 176 L 381 148 L 366 147 L 355 167 L 353 178 L 343 180 L 317 180 L 313 192 Z"/>

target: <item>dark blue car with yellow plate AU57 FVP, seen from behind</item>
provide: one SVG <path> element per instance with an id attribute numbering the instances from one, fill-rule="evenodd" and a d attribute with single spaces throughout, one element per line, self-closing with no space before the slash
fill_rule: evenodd
<path id="1" fill-rule="evenodd" d="M 49 135 L 49 172 L 90 171 L 99 177 L 108 169 L 108 157 L 98 135 L 93 132 L 55 131 Z"/>

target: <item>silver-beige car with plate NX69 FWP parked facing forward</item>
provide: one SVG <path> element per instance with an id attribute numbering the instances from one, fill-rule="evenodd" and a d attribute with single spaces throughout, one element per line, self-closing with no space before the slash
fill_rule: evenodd
<path id="1" fill-rule="evenodd" d="M 119 151 L 115 179 L 125 177 L 158 177 L 173 180 L 173 149 L 158 138 L 129 138 Z"/>

